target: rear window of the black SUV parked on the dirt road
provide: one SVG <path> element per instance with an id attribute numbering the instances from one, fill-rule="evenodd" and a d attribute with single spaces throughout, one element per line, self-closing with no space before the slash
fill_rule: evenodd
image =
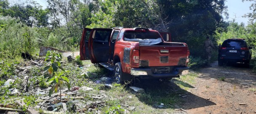
<path id="1" fill-rule="evenodd" d="M 226 40 L 222 43 L 222 47 L 227 48 L 246 48 L 246 43 L 243 40 Z"/>

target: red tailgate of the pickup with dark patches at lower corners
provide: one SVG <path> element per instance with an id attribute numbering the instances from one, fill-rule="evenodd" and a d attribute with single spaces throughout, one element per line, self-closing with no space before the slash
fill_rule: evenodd
<path id="1" fill-rule="evenodd" d="M 139 66 L 185 65 L 187 50 L 187 46 L 139 46 Z"/>

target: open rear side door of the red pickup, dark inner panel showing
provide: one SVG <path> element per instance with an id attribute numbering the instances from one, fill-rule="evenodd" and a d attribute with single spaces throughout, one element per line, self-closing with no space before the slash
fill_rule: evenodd
<path id="1" fill-rule="evenodd" d="M 89 38 L 89 52 L 92 63 L 105 63 L 109 60 L 109 38 L 112 29 L 93 28 Z"/>

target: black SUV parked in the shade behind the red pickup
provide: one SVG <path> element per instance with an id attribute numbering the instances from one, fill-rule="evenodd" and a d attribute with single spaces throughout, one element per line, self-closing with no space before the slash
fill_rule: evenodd
<path id="1" fill-rule="evenodd" d="M 248 47 L 245 39 L 227 39 L 222 45 L 219 44 L 218 63 L 219 66 L 224 62 L 240 62 L 249 66 L 251 60 L 252 47 Z"/>

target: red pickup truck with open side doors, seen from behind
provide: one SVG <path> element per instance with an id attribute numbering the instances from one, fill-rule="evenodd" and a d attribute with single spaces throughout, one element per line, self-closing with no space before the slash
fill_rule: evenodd
<path id="1" fill-rule="evenodd" d="M 80 60 L 88 59 L 114 71 L 117 83 L 132 76 L 171 79 L 189 69 L 187 44 L 165 42 L 158 31 L 148 28 L 84 28 Z"/>

